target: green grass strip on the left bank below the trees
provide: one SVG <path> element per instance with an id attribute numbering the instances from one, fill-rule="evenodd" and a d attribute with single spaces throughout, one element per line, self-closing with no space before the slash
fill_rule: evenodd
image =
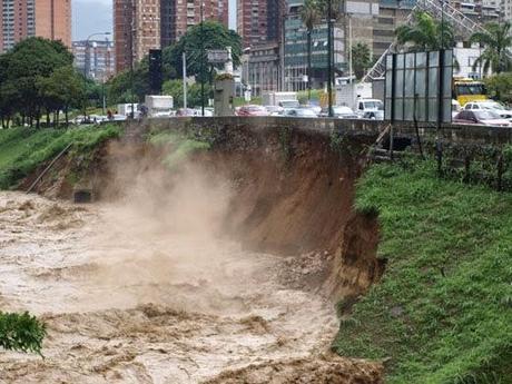
<path id="1" fill-rule="evenodd" d="M 118 126 L 72 129 L 0 129 L 0 189 L 16 184 L 39 165 L 51 160 L 69 144 L 72 154 L 83 155 L 109 138 L 118 137 Z"/>

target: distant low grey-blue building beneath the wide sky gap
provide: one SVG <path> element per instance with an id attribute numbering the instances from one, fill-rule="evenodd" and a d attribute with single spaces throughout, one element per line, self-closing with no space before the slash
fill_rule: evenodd
<path id="1" fill-rule="evenodd" d="M 73 41 L 72 53 L 75 55 L 75 67 L 90 79 L 106 81 L 116 71 L 116 55 L 112 41 Z"/>

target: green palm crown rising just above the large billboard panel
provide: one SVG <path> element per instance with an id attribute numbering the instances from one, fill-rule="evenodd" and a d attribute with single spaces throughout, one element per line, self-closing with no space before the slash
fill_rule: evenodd
<path id="1" fill-rule="evenodd" d="M 410 51 L 439 50 L 455 46 L 453 27 L 447 21 L 441 22 L 424 11 L 413 16 L 413 24 L 396 28 L 395 33 L 401 45 L 408 45 Z"/>

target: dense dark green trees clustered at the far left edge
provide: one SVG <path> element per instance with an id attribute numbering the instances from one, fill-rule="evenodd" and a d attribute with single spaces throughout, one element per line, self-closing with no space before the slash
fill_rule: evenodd
<path id="1" fill-rule="evenodd" d="M 39 128 L 59 122 L 59 111 L 83 105 L 83 77 L 72 66 L 73 56 L 60 41 L 28 38 L 0 56 L 0 120 Z M 16 121 L 13 121 L 16 120 Z"/>

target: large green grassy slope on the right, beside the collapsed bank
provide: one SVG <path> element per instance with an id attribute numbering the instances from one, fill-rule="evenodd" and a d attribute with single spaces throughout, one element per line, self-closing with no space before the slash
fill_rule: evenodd
<path id="1" fill-rule="evenodd" d="M 512 383 L 512 195 L 373 166 L 356 209 L 378 213 L 377 285 L 333 348 L 386 360 L 397 383 Z"/>

